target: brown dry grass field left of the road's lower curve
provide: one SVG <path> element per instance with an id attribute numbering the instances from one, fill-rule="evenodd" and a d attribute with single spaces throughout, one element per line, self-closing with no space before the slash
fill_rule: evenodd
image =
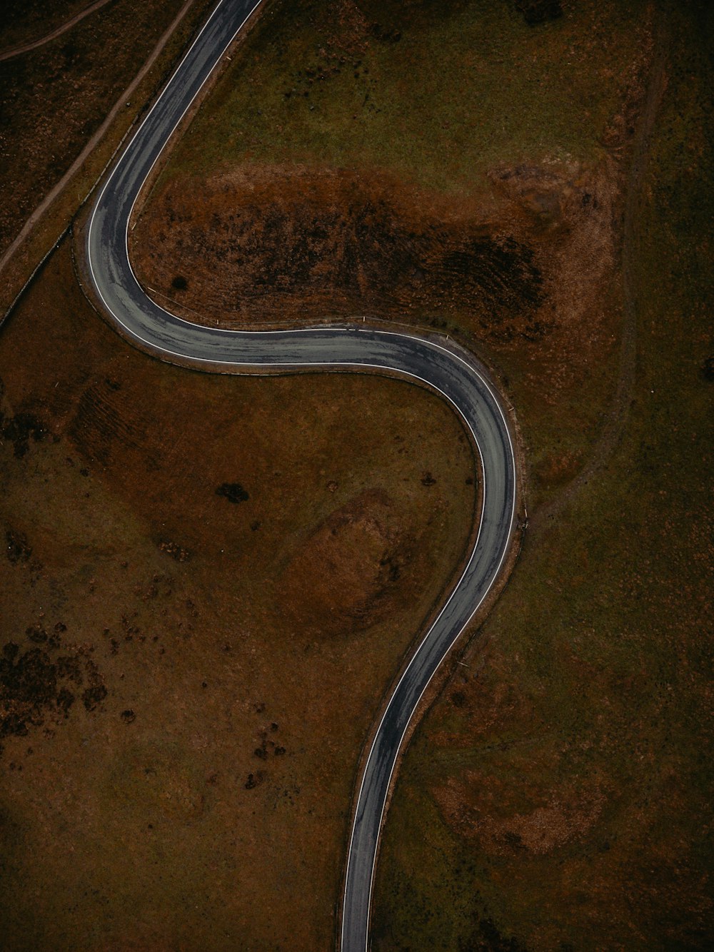
<path id="1" fill-rule="evenodd" d="M 396 381 L 161 365 L 67 247 L 0 368 L 5 941 L 327 948 L 361 744 L 470 531 L 461 426 Z"/>

